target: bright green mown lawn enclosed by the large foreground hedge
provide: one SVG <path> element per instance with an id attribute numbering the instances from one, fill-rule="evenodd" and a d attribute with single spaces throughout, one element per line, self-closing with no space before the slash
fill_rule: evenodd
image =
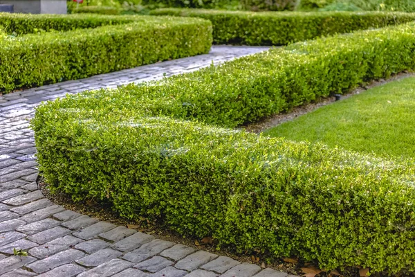
<path id="1" fill-rule="evenodd" d="M 415 78 L 369 89 L 264 134 L 382 156 L 415 157 Z"/>

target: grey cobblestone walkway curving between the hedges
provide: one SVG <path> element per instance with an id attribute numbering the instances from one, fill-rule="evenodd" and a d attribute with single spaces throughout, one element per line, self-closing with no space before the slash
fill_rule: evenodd
<path id="1" fill-rule="evenodd" d="M 264 51 L 214 46 L 208 55 L 159 62 L 0 96 L 0 276 L 284 277 L 192 247 L 158 240 L 57 206 L 37 188 L 33 108 L 87 89 L 155 80 Z M 14 256 L 13 249 L 28 256 Z"/>

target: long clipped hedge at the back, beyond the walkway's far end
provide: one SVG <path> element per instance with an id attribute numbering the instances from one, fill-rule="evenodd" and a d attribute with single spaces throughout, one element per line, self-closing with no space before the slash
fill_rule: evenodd
<path id="1" fill-rule="evenodd" d="M 201 17 L 212 21 L 215 44 L 286 45 L 335 33 L 415 20 L 405 12 L 232 12 L 163 8 L 150 15 Z"/>

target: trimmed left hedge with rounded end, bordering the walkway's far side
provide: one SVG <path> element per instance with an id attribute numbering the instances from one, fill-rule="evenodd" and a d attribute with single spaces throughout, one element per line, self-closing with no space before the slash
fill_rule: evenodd
<path id="1" fill-rule="evenodd" d="M 86 78 L 210 49 L 209 21 L 141 18 L 130 24 L 1 39 L 0 91 Z"/>

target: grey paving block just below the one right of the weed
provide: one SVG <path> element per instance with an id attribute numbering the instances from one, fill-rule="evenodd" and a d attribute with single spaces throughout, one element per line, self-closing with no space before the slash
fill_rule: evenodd
<path id="1" fill-rule="evenodd" d="M 48 258 L 44 258 L 43 260 L 33 262 L 30 265 L 27 265 L 26 267 L 32 269 L 37 274 L 40 274 L 50 269 L 54 269 L 55 267 L 59 267 L 59 265 L 66 265 L 68 263 L 71 263 L 74 260 L 83 257 L 84 255 L 85 253 L 82 251 L 69 249 L 66 251 L 59 252 Z"/>

